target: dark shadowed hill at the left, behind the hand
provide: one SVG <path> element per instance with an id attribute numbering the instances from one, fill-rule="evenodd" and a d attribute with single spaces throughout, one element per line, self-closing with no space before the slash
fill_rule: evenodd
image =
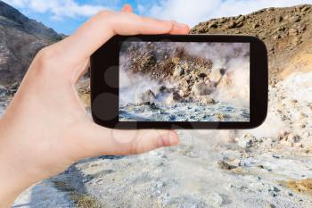
<path id="1" fill-rule="evenodd" d="M 0 84 L 20 81 L 37 51 L 60 39 L 53 29 L 0 1 Z"/>

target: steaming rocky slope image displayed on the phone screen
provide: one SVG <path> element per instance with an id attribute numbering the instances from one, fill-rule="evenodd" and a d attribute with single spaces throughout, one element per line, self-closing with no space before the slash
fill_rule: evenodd
<path id="1" fill-rule="evenodd" d="M 250 121 L 250 44 L 123 42 L 119 121 Z"/>

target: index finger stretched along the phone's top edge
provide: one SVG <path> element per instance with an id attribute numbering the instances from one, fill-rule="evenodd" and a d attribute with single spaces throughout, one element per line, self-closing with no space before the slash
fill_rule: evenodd
<path id="1" fill-rule="evenodd" d="M 188 27 L 174 21 L 159 21 L 131 12 L 100 12 L 73 35 L 55 45 L 70 62 L 89 57 L 116 34 L 185 34 Z"/>

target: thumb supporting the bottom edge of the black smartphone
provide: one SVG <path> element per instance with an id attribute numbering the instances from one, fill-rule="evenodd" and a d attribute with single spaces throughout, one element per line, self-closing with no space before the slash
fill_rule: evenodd
<path id="1" fill-rule="evenodd" d="M 82 157 L 98 155 L 141 154 L 162 146 L 175 146 L 179 142 L 173 130 L 107 129 L 94 123 L 89 124 L 78 136 L 85 146 Z"/>

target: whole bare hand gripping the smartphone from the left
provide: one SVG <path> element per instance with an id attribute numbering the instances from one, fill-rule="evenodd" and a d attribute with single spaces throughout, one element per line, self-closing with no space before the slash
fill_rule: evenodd
<path id="1" fill-rule="evenodd" d="M 0 120 L 0 207 L 10 207 L 24 189 L 80 159 L 177 145 L 172 130 L 96 125 L 87 116 L 75 84 L 86 72 L 90 55 L 116 34 L 188 31 L 176 21 L 135 15 L 126 5 L 122 12 L 99 12 L 70 37 L 42 49 Z"/>

